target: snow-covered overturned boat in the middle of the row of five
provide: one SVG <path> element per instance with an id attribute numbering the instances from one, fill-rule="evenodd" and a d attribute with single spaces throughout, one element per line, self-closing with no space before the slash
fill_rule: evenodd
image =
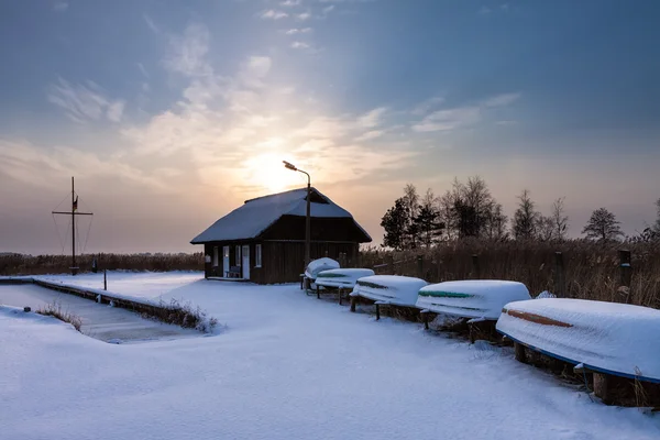
<path id="1" fill-rule="evenodd" d="M 374 275 L 358 279 L 351 296 L 362 296 L 375 301 L 414 307 L 417 293 L 428 285 L 419 278 L 398 275 Z"/>

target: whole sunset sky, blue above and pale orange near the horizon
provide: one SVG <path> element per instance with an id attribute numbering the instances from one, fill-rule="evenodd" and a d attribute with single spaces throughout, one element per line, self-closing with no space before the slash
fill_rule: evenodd
<path id="1" fill-rule="evenodd" d="M 193 252 L 312 185 L 374 238 L 403 187 L 480 175 L 635 233 L 660 197 L 657 1 L 0 2 L 0 252 Z M 68 195 L 68 196 L 67 196 Z M 88 232 L 89 231 L 89 232 Z"/>

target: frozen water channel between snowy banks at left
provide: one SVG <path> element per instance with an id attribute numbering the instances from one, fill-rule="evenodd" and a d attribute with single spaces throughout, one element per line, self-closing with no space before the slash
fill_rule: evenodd
<path id="1" fill-rule="evenodd" d="M 53 304 L 56 304 L 62 311 L 79 317 L 82 322 L 80 331 L 84 334 L 105 342 L 134 343 L 201 336 L 197 330 L 145 319 L 125 309 L 97 304 L 32 284 L 0 286 L 0 305 L 28 306 L 36 311 Z"/>

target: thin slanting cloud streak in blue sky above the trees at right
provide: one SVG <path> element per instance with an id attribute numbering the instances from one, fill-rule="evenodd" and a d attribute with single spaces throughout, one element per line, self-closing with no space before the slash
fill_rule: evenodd
<path id="1" fill-rule="evenodd" d="M 486 110 L 509 106 L 519 97 L 520 94 L 504 94 L 485 99 L 475 106 L 433 111 L 415 123 L 413 130 L 416 132 L 451 131 L 474 125 L 482 120 Z"/>

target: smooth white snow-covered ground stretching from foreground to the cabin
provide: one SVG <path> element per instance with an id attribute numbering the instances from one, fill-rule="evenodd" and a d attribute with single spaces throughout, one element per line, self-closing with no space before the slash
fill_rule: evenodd
<path id="1" fill-rule="evenodd" d="M 375 321 L 296 285 L 158 274 L 142 290 L 148 276 L 112 276 L 119 293 L 188 299 L 227 327 L 114 345 L 3 308 L 0 438 L 660 438 L 658 417 L 591 402 L 509 350 Z"/>

